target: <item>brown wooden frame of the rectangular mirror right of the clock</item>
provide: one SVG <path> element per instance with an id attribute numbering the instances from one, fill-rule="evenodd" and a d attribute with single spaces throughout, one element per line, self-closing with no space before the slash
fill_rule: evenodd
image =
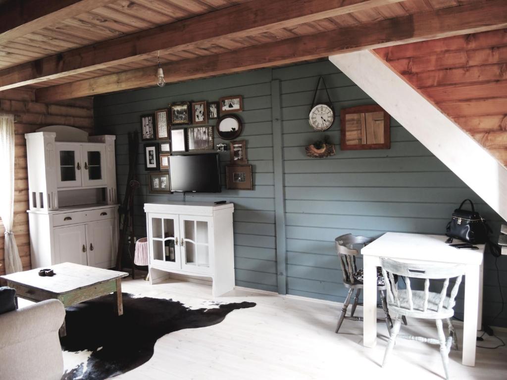
<path id="1" fill-rule="evenodd" d="M 384 142 L 382 144 L 346 144 L 346 116 L 350 113 L 384 112 Z M 391 117 L 380 105 L 359 105 L 357 107 L 342 108 L 340 111 L 340 147 L 342 150 L 359 149 L 389 149 L 391 147 Z"/>

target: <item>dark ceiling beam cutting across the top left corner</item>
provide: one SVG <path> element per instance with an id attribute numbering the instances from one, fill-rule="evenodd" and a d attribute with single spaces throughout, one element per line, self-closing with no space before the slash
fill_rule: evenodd
<path id="1" fill-rule="evenodd" d="M 0 5 L 0 44 L 115 0 L 11 0 Z"/>

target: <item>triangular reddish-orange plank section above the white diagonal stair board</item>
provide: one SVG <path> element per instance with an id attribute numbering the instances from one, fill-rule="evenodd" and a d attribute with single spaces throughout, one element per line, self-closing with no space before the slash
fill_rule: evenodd
<path id="1" fill-rule="evenodd" d="M 507 167 L 507 29 L 375 52 Z"/>

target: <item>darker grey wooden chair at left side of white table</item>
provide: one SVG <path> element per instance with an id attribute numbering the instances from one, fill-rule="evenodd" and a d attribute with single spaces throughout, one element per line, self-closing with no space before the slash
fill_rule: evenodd
<path id="1" fill-rule="evenodd" d="M 374 238 L 365 238 L 364 236 L 354 236 L 352 234 L 346 234 L 339 236 L 335 239 L 336 244 L 336 250 L 338 252 L 338 258 L 340 259 L 340 266 L 342 268 L 343 273 L 343 284 L 346 288 L 349 289 L 347 298 L 345 299 L 345 302 L 343 303 L 343 308 L 340 313 L 340 316 L 338 317 L 338 324 L 336 326 L 335 333 L 338 333 L 338 330 L 340 330 L 340 327 L 343 323 L 344 319 L 350 319 L 353 321 L 362 321 L 363 317 L 354 317 L 355 309 L 357 305 L 363 305 L 362 303 L 359 303 L 359 295 L 361 294 L 361 289 L 363 289 L 363 282 L 358 281 L 356 278 L 354 278 L 354 275 L 357 274 L 357 268 L 355 265 L 355 258 L 360 253 L 360 249 L 363 248 L 368 243 L 371 243 L 374 241 Z M 391 317 L 389 315 L 389 312 L 387 310 L 387 302 L 385 298 L 385 285 L 379 284 L 377 282 L 377 289 L 380 293 L 380 299 L 382 301 L 382 309 L 385 313 L 385 323 L 387 325 L 387 330 L 389 331 L 389 334 L 391 333 L 391 327 L 392 327 L 392 321 Z M 347 317 L 347 308 L 350 303 L 350 298 L 352 297 L 353 293 L 355 291 L 354 301 L 352 303 L 352 309 L 350 310 L 350 316 Z M 404 319 L 405 324 L 406 320 Z"/>

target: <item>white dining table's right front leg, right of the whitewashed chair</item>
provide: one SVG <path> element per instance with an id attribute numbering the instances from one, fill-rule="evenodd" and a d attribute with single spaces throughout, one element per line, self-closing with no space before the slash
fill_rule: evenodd
<path id="1" fill-rule="evenodd" d="M 479 310 L 479 265 L 466 265 L 463 311 L 463 365 L 475 366 Z"/>

